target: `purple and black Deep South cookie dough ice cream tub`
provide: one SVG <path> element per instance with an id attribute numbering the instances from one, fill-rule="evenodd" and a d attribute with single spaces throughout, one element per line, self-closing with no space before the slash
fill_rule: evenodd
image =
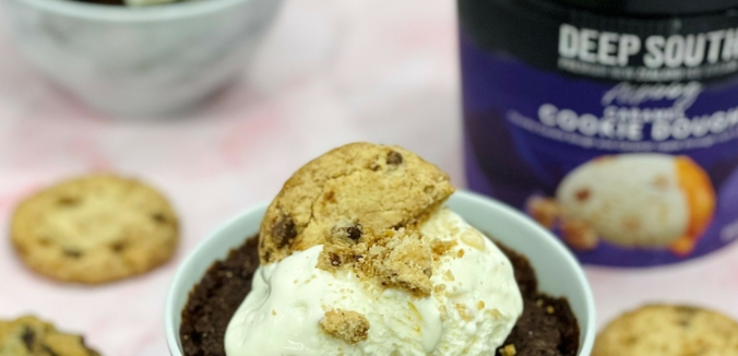
<path id="1" fill-rule="evenodd" d="M 457 3 L 472 190 L 585 263 L 738 238 L 738 1 Z"/>

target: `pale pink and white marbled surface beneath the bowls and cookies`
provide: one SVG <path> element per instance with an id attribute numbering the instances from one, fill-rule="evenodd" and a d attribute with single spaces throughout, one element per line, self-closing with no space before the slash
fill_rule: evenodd
<path id="1" fill-rule="evenodd" d="M 2 13 L 0 13 L 2 15 Z M 0 26 L 0 230 L 34 189 L 90 170 L 139 176 L 182 218 L 176 258 L 105 286 L 27 271 L 0 240 L 0 318 L 36 313 L 105 355 L 166 355 L 163 306 L 177 264 L 216 224 L 269 200 L 307 159 L 368 140 L 418 152 L 463 186 L 452 1 L 287 1 L 242 80 L 201 111 L 112 120 L 49 85 Z M 738 245 L 677 266 L 587 268 L 598 323 L 646 301 L 738 318 Z"/>

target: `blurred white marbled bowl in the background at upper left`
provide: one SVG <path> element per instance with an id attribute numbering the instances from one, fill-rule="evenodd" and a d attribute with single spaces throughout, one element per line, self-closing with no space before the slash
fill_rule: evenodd
<path id="1" fill-rule="evenodd" d="M 55 83 L 114 116 L 194 107 L 249 62 L 282 0 L 145 8 L 3 0 L 15 41 Z"/>

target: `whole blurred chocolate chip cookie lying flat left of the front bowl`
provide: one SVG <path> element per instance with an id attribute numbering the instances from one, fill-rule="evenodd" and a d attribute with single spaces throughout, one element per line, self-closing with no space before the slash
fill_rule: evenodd
<path id="1" fill-rule="evenodd" d="M 110 175 L 60 182 L 23 201 L 11 223 L 22 260 L 46 276 L 104 283 L 167 261 L 177 215 L 153 188 Z"/>

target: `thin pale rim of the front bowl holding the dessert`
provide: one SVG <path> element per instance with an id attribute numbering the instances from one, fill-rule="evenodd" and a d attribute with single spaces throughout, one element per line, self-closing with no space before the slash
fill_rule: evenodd
<path id="1" fill-rule="evenodd" d="M 467 201 L 474 201 L 475 203 L 478 204 L 484 204 L 484 205 L 489 205 L 492 210 L 499 211 L 501 215 L 504 215 L 504 218 L 509 218 L 511 221 L 514 221 L 517 224 L 521 225 L 528 225 L 528 227 L 533 228 L 534 230 L 537 230 L 540 235 L 545 235 L 549 237 L 549 240 L 551 240 L 551 245 L 554 248 L 560 253 L 560 256 L 563 258 L 563 260 L 573 266 L 574 272 L 574 277 L 578 280 L 578 283 L 584 286 L 585 289 L 585 295 L 584 295 L 584 302 L 585 302 L 585 310 L 587 310 L 586 315 L 586 325 L 590 328 L 584 331 L 584 334 L 582 335 L 581 340 L 583 340 L 583 343 L 580 345 L 580 351 L 579 354 L 580 356 L 588 356 L 592 353 L 592 347 L 594 346 L 594 340 L 595 340 L 595 319 L 596 319 L 596 309 L 595 309 L 595 300 L 592 295 L 592 289 L 590 287 L 590 283 L 584 275 L 584 270 L 582 269 L 582 265 L 576 261 L 576 258 L 572 252 L 559 240 L 558 238 L 555 238 L 551 233 L 540 225 L 536 224 L 533 222 L 529 217 L 525 216 L 523 213 L 516 211 L 514 207 L 507 205 L 502 202 L 492 200 L 490 198 L 487 198 L 485 195 L 480 195 L 477 193 L 473 193 L 469 191 L 463 191 L 463 190 L 457 190 L 454 195 L 457 197 L 457 199 L 461 200 L 467 200 Z M 166 339 L 167 339 L 167 347 L 169 348 L 169 352 L 171 353 L 171 349 L 177 349 L 179 351 L 178 355 L 181 355 L 181 349 L 179 349 L 179 333 L 178 332 L 171 332 L 172 330 L 179 330 L 179 325 L 174 325 L 174 316 L 176 313 L 180 313 L 181 310 L 176 310 L 175 307 L 175 294 L 177 290 L 177 286 L 182 284 L 182 280 L 184 280 L 184 270 L 182 269 L 183 265 L 189 265 L 192 263 L 192 261 L 195 259 L 199 253 L 197 253 L 199 250 L 202 250 L 205 245 L 209 244 L 211 239 L 213 239 L 214 236 L 221 234 L 227 226 L 234 225 L 236 222 L 245 218 L 248 215 L 253 214 L 255 211 L 263 210 L 265 209 L 267 203 L 262 202 L 259 204 L 255 204 L 251 209 L 246 210 L 245 212 L 237 214 L 236 216 L 233 216 L 231 218 L 227 219 L 225 223 L 221 224 L 217 226 L 214 230 L 212 230 L 206 238 L 201 240 L 198 246 L 192 249 L 187 258 L 180 263 L 179 268 L 177 269 L 177 273 L 175 274 L 175 277 L 169 285 L 169 290 L 167 292 L 167 297 L 166 297 L 166 306 L 165 306 L 165 311 L 164 311 L 164 324 L 165 324 L 165 333 L 166 333 Z M 214 262 L 214 261 L 213 261 Z M 192 286 L 190 286 L 191 288 Z M 189 290 L 189 289 L 188 289 Z M 579 316 L 578 316 L 579 317 Z M 583 321 L 580 321 L 580 329 L 583 324 Z M 174 354 L 172 354 L 174 355 Z"/>

